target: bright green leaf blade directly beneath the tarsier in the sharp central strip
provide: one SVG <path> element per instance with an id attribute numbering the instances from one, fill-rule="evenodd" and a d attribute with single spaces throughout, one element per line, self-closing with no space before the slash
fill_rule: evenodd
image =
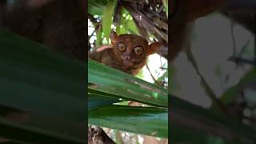
<path id="1" fill-rule="evenodd" d="M 166 89 L 90 59 L 88 64 L 88 82 L 94 84 L 90 89 L 152 106 L 168 106 Z"/>

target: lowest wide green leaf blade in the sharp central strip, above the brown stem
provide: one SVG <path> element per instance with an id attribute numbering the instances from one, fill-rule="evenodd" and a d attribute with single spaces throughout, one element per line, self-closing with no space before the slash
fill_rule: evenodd
<path id="1" fill-rule="evenodd" d="M 105 106 L 90 111 L 88 118 L 92 125 L 160 138 L 168 137 L 167 109 Z"/>

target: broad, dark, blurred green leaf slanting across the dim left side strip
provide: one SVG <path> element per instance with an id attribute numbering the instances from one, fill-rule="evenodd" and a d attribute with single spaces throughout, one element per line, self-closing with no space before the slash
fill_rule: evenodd
<path id="1" fill-rule="evenodd" d="M 0 45 L 0 105 L 84 120 L 86 62 L 8 31 L 0 31 Z"/>

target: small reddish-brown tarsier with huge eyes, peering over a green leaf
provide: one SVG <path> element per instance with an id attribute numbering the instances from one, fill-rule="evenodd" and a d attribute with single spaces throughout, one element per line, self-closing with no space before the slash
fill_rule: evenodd
<path id="1" fill-rule="evenodd" d="M 149 45 L 146 39 L 136 34 L 118 36 L 114 31 L 110 34 L 110 40 L 111 45 L 90 51 L 89 58 L 132 75 L 138 74 L 145 66 L 147 56 L 162 47 L 161 42 Z"/>

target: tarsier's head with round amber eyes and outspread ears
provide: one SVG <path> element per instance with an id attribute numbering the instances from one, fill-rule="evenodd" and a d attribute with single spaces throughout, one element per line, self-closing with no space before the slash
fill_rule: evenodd
<path id="1" fill-rule="evenodd" d="M 112 31 L 110 38 L 114 53 L 120 56 L 122 63 L 128 69 L 141 64 L 148 55 L 154 54 L 161 47 L 159 42 L 148 45 L 146 39 L 135 34 L 121 34 L 118 36 Z"/>

